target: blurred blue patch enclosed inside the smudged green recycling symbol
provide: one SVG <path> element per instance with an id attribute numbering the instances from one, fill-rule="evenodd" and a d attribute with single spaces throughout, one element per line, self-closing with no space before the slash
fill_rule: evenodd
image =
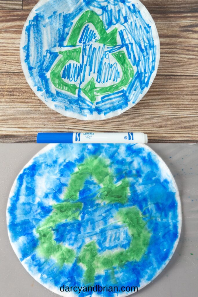
<path id="1" fill-rule="evenodd" d="M 72 248 L 75 247 L 77 254 L 80 253 L 87 240 L 97 242 L 99 253 L 106 250 L 129 248 L 131 236 L 128 233 L 128 228 L 126 226 L 121 228 L 117 222 L 108 223 L 110 219 L 113 219 L 118 208 L 115 207 L 115 212 L 113 212 L 111 205 L 101 207 L 100 203 L 95 201 L 99 189 L 100 186 L 96 185 L 94 181 L 86 181 L 83 190 L 79 193 L 79 201 L 83 203 L 80 221 L 58 224 L 55 229 L 56 241 L 69 244 Z"/>

